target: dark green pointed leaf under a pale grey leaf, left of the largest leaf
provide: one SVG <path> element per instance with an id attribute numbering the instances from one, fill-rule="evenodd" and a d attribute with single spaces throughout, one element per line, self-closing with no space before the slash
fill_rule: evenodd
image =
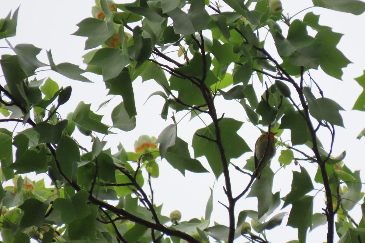
<path id="1" fill-rule="evenodd" d="M 166 150 L 164 158 L 184 176 L 185 170 L 195 173 L 208 172 L 199 160 L 190 157 L 188 143 L 179 137 L 176 137 L 174 145 Z"/>

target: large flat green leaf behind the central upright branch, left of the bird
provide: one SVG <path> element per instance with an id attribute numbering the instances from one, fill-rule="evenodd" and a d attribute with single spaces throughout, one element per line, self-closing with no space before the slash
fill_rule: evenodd
<path id="1" fill-rule="evenodd" d="M 231 158 L 238 158 L 242 154 L 251 151 L 245 140 L 237 134 L 243 122 L 237 121 L 233 118 L 222 118 L 219 121 L 220 136 L 225 151 L 227 161 Z M 216 139 L 214 124 L 211 123 L 206 128 L 198 129 L 195 134 L 199 134 L 210 139 Z M 193 137 L 192 147 L 194 149 L 195 158 L 205 156 L 209 165 L 218 179 L 223 172 L 222 161 L 218 147 L 215 142 L 207 140 L 204 137 L 195 135 Z"/>

